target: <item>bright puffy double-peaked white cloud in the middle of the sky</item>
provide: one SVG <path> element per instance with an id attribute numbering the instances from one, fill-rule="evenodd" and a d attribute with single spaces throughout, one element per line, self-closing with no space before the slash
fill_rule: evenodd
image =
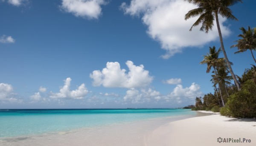
<path id="1" fill-rule="evenodd" d="M 95 70 L 90 74 L 93 79 L 93 86 L 119 87 L 119 88 L 140 88 L 148 86 L 153 77 L 149 75 L 144 66 L 135 66 L 132 61 L 127 61 L 129 72 L 126 74 L 125 69 L 120 68 L 118 62 L 108 62 L 106 68 L 102 71 Z"/>

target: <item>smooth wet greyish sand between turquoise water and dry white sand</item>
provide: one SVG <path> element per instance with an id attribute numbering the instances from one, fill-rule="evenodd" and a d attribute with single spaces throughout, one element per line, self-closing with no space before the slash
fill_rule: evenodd
<path id="1" fill-rule="evenodd" d="M 0 138 L 0 146 L 145 146 L 145 134 L 166 123 L 195 116 L 202 114 L 157 118 L 44 135 Z"/>

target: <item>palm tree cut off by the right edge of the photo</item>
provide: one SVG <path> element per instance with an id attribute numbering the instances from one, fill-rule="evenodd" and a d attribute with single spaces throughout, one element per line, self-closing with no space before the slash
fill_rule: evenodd
<path id="1" fill-rule="evenodd" d="M 245 52 L 249 49 L 253 56 L 252 50 L 256 51 L 256 28 L 250 29 L 250 26 L 248 26 L 248 30 L 244 29 L 243 27 L 241 27 L 240 30 L 243 34 L 239 34 L 238 36 L 242 38 L 236 40 L 235 42 L 237 42 L 237 44 L 231 46 L 231 48 L 237 47 L 239 51 L 235 52 L 235 54 Z M 253 60 L 256 63 L 254 56 Z"/>

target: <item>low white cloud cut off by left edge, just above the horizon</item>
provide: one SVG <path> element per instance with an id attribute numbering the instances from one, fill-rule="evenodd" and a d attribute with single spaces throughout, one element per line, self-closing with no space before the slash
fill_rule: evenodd
<path id="1" fill-rule="evenodd" d="M 0 100 L 9 102 L 20 102 L 21 100 L 13 97 L 13 87 L 7 83 L 0 83 Z"/>

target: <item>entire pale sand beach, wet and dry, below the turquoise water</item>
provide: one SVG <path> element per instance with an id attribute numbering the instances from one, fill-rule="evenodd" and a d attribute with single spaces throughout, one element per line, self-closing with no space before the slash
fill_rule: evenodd
<path id="1" fill-rule="evenodd" d="M 3 138 L 0 146 L 255 146 L 256 120 L 212 112 Z M 196 116 L 196 117 L 195 117 Z M 217 139 L 221 137 L 222 142 Z M 224 138 L 247 143 L 223 143 Z M 240 138 L 240 139 L 239 139 Z M 228 140 L 228 139 L 227 139 Z M 250 140 L 250 142 L 248 141 Z"/>

